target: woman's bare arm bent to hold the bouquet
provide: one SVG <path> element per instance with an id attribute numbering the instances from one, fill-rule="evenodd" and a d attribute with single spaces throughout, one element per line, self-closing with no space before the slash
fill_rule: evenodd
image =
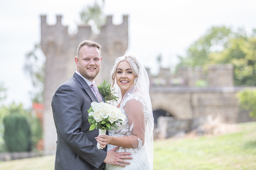
<path id="1" fill-rule="evenodd" d="M 124 148 L 137 148 L 139 146 L 138 138 L 142 141 L 142 146 L 144 145 L 145 117 L 142 103 L 135 99 L 129 100 L 124 110 L 127 113 L 131 135 L 124 137 L 100 135 L 96 139 L 102 148 L 108 144 Z"/>

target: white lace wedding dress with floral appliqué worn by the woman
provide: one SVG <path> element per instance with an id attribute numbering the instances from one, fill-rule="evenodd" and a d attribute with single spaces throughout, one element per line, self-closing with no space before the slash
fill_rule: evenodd
<path id="1" fill-rule="evenodd" d="M 148 113 L 146 112 L 146 106 L 145 103 L 143 102 L 143 100 L 135 94 L 128 94 L 128 97 L 125 98 L 125 101 L 122 101 L 122 103 L 120 104 L 119 109 L 122 111 L 123 114 L 125 114 L 125 116 L 127 117 L 125 119 L 125 121 L 122 123 L 122 125 L 118 124 L 118 129 L 114 129 L 113 131 L 109 131 L 109 136 L 117 136 L 117 137 L 123 137 L 123 136 L 129 136 L 132 135 L 132 131 L 134 130 L 134 123 L 130 122 L 131 125 L 129 125 L 128 123 L 128 119 L 129 119 L 129 115 L 127 115 L 127 113 L 124 110 L 124 107 L 126 105 L 126 103 L 129 100 L 136 100 L 136 101 L 140 101 L 141 104 L 143 105 L 143 109 L 144 109 L 144 116 L 145 116 L 145 121 L 147 121 L 148 118 Z M 130 152 L 131 156 L 133 157 L 133 159 L 128 160 L 128 162 L 130 162 L 130 165 L 126 165 L 126 167 L 120 167 L 120 166 L 116 166 L 116 165 L 109 165 L 106 164 L 105 165 L 105 170 L 124 170 L 124 169 L 130 169 L 130 170 L 149 170 L 150 169 L 150 164 L 147 158 L 147 154 L 146 154 L 146 150 L 145 150 L 145 146 L 142 146 L 142 140 L 140 138 L 138 138 L 138 142 L 139 142 L 139 146 L 136 148 L 123 148 L 120 147 L 116 152 Z M 115 146 L 113 145 L 108 145 L 107 147 L 107 151 L 113 149 Z"/>

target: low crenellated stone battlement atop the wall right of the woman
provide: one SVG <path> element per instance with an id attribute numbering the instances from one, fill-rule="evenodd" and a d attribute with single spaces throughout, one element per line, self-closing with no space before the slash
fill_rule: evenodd
<path id="1" fill-rule="evenodd" d="M 170 68 L 160 68 L 158 75 L 152 75 L 146 69 L 151 86 L 186 86 L 186 87 L 226 87 L 234 86 L 233 65 L 209 65 L 204 72 L 202 67 L 179 66 L 175 74 Z"/>

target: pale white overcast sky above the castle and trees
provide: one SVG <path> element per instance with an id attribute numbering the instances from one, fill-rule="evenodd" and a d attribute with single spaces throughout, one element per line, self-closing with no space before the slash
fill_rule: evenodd
<path id="1" fill-rule="evenodd" d="M 6 104 L 31 106 L 32 85 L 23 67 L 26 53 L 40 43 L 40 15 L 46 15 L 49 24 L 62 15 L 62 24 L 74 33 L 79 12 L 91 1 L 0 0 L 0 83 L 7 89 Z M 159 54 L 164 67 L 175 66 L 176 56 L 184 56 L 188 46 L 213 26 L 241 27 L 249 34 L 256 29 L 255 0 L 105 0 L 104 13 L 113 15 L 114 24 L 129 15 L 126 54 L 145 61 L 153 72 Z"/>

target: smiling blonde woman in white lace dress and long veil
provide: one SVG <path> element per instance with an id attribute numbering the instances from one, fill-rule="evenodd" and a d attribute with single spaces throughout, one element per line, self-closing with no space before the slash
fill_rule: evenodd
<path id="1" fill-rule="evenodd" d="M 108 151 L 119 146 L 116 152 L 130 152 L 133 159 L 125 168 L 106 164 L 105 169 L 153 170 L 154 118 L 147 72 L 134 56 L 120 56 L 111 69 L 111 81 L 121 95 L 115 105 L 127 119 L 109 131 L 109 136 L 100 135 L 96 140 L 102 148 L 108 145 Z"/>

